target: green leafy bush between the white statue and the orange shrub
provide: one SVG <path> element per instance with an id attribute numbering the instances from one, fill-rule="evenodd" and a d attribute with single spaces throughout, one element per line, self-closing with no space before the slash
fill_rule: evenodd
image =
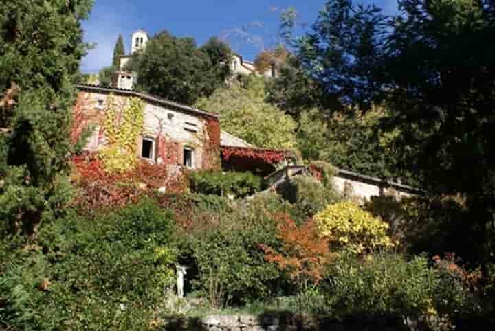
<path id="1" fill-rule="evenodd" d="M 262 242 L 275 237 L 263 227 L 221 224 L 191 238 L 192 258 L 199 272 L 195 288 L 214 307 L 245 304 L 274 292 L 281 276 L 263 259 Z"/>

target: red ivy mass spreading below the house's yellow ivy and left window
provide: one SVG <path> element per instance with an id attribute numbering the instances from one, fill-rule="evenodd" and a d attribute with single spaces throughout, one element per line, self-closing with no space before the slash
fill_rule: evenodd
<path id="1" fill-rule="evenodd" d="M 133 171 L 110 174 L 94 154 L 74 157 L 73 165 L 72 180 L 80 192 L 72 204 L 83 210 L 120 207 L 153 196 L 158 187 L 166 187 L 167 192 L 183 192 L 187 187 L 184 174 L 169 178 L 166 165 L 143 161 Z"/>

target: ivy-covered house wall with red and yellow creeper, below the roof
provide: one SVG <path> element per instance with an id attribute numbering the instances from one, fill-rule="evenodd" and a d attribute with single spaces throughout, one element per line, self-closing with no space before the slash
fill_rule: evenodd
<path id="1" fill-rule="evenodd" d="M 80 91 L 74 106 L 72 140 L 94 128 L 85 150 L 99 152 L 112 170 L 128 168 L 142 155 L 143 137 L 155 141 L 154 163 L 183 165 L 184 148 L 194 150 L 194 168 L 220 166 L 220 127 L 216 117 L 182 112 L 157 102 L 95 91 Z M 109 152 L 111 151 L 111 152 Z M 126 154 L 125 162 L 108 158 Z M 115 165 L 115 163 L 117 165 Z"/>

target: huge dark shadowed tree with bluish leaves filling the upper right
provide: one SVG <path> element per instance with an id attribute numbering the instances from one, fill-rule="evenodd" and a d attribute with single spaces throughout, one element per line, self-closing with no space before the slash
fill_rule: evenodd
<path id="1" fill-rule="evenodd" d="M 347 104 L 386 100 L 397 167 L 432 194 L 462 194 L 488 259 L 495 224 L 495 3 L 401 0 L 397 16 L 327 1 L 294 41 L 303 67 Z M 287 25 L 289 26 L 289 25 Z M 469 171 L 466 171 L 469 170 Z"/>

